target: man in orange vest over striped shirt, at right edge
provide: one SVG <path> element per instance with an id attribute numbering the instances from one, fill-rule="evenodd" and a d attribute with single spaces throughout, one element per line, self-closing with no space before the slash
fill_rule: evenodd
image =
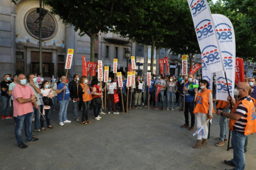
<path id="1" fill-rule="evenodd" d="M 237 95 L 239 100 L 234 103 L 232 97 L 228 100 L 233 101 L 233 110 L 231 113 L 226 113 L 222 110 L 217 111 L 217 115 L 229 118 L 229 129 L 232 131 L 231 145 L 234 148 L 234 158 L 230 161 L 224 160 L 225 164 L 234 166 L 235 170 L 243 170 L 245 168 L 244 144 L 247 135 L 256 132 L 256 113 L 255 99 L 249 95 L 251 91 L 248 83 L 241 82 L 234 89 L 234 95 Z"/>

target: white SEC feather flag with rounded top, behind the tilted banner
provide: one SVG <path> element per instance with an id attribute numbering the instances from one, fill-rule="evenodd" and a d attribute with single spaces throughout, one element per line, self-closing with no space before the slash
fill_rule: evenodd
<path id="1" fill-rule="evenodd" d="M 216 99 L 227 101 L 228 87 L 230 95 L 233 96 L 235 86 L 236 41 L 234 28 L 229 18 L 225 17 L 224 15 L 213 14 L 212 16 L 215 23 L 215 29 L 218 34 L 218 41 L 220 44 L 226 77 L 228 79 L 227 83 L 224 71 L 216 72 Z"/>

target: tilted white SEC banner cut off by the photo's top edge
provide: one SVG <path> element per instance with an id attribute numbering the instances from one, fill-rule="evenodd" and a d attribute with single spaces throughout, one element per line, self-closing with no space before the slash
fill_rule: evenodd
<path id="1" fill-rule="evenodd" d="M 224 70 L 221 49 L 207 0 L 187 0 L 197 34 L 197 41 L 208 73 Z"/>

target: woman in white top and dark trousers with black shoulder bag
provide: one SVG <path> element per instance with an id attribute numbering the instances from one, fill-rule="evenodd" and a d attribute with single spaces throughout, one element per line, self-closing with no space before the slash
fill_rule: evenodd
<path id="1" fill-rule="evenodd" d="M 41 94 L 39 95 L 41 103 L 43 104 L 43 115 L 45 115 L 46 118 L 46 123 L 47 127 L 50 129 L 53 129 L 53 126 L 50 124 L 50 115 L 51 115 L 51 106 L 44 105 L 43 103 L 43 97 L 47 96 L 50 97 L 51 99 L 54 97 L 53 89 L 49 89 L 49 82 L 48 81 L 43 81 L 40 87 Z M 41 130 L 45 131 L 45 121 L 43 116 L 40 118 L 40 123 L 41 123 Z"/>

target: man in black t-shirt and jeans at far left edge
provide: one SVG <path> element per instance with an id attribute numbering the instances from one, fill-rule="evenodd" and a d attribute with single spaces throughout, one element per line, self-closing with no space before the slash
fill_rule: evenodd
<path id="1" fill-rule="evenodd" d="M 2 119 L 11 119 L 13 118 L 10 116 L 10 98 L 9 94 L 7 93 L 9 91 L 9 84 L 12 82 L 10 81 L 11 78 L 8 74 L 4 75 L 4 81 L 1 82 L 1 98 L 2 98 Z"/>

